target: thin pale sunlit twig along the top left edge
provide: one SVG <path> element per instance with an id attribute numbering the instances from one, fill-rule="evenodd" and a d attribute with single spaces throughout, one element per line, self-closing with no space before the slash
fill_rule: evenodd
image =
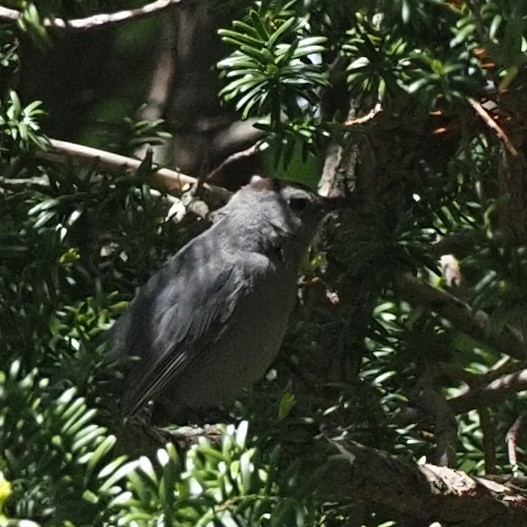
<path id="1" fill-rule="evenodd" d="M 66 29 L 71 31 L 89 31 L 91 29 L 99 29 L 102 26 L 110 24 L 121 24 L 130 20 L 143 18 L 149 15 L 160 13 L 165 9 L 174 7 L 184 0 L 157 0 L 143 7 L 136 9 L 126 9 L 116 13 L 100 13 L 86 18 L 75 18 L 66 20 L 64 18 L 45 18 L 44 26 L 49 28 Z M 22 12 L 16 9 L 9 9 L 0 6 L 0 20 L 19 20 L 22 17 Z"/>

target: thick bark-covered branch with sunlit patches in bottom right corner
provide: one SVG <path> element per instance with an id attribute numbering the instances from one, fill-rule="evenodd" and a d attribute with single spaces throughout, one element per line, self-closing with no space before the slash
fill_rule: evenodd
<path id="1" fill-rule="evenodd" d="M 407 463 L 359 443 L 333 444 L 341 455 L 334 459 L 332 490 L 354 503 L 388 507 L 404 516 L 404 525 L 527 525 L 525 490 L 447 467 Z"/>

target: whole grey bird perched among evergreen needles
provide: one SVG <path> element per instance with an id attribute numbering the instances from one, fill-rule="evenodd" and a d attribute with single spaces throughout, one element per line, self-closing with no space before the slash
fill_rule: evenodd
<path id="1" fill-rule="evenodd" d="M 300 261 L 334 200 L 298 184 L 255 181 L 139 290 L 110 330 L 136 356 L 122 417 L 153 401 L 153 424 L 219 404 L 260 378 L 294 307 Z"/>

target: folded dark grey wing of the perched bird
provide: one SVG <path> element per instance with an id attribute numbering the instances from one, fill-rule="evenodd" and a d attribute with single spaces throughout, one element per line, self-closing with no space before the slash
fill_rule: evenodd
<path id="1" fill-rule="evenodd" d="M 126 353 L 140 360 L 128 378 L 124 417 L 135 415 L 221 336 L 249 289 L 234 261 L 216 259 L 195 269 L 177 258 L 172 264 L 152 277 L 131 306 Z"/>

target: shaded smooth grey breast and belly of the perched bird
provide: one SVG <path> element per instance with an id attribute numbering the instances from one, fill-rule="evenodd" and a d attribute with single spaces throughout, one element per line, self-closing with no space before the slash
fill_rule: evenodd
<path id="1" fill-rule="evenodd" d="M 198 409 L 233 398 L 260 379 L 280 349 L 295 291 L 294 277 L 274 264 L 263 275 L 255 273 L 250 292 L 239 299 L 217 339 L 162 397 Z"/>

